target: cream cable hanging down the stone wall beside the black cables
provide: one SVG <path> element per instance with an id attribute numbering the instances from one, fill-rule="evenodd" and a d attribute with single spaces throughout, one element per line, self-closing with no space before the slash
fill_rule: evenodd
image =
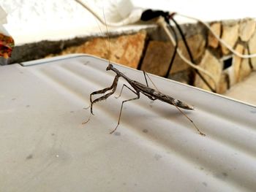
<path id="1" fill-rule="evenodd" d="M 157 20 L 157 23 L 159 24 L 159 26 L 162 26 L 162 28 L 164 28 L 165 30 L 165 33 L 167 34 L 167 36 L 170 38 L 170 42 L 172 42 L 173 46 L 176 47 L 176 42 L 175 40 L 173 39 L 173 36 L 172 34 L 170 34 L 170 31 L 168 30 L 167 26 L 166 26 L 166 23 L 165 23 L 165 19 L 162 18 L 162 17 L 159 17 L 159 19 Z M 200 72 L 203 72 L 204 74 L 206 74 L 208 77 L 211 78 L 211 80 L 213 80 L 214 82 L 214 87 L 215 89 L 217 88 L 217 81 L 215 80 L 214 76 L 206 71 L 205 69 L 203 69 L 202 67 L 200 66 L 197 66 L 195 64 L 193 64 L 191 61 L 189 61 L 181 52 L 181 50 L 177 47 L 177 53 L 178 55 L 180 56 L 180 58 L 185 62 L 187 63 L 189 66 L 191 66 L 192 68 L 194 69 L 197 69 L 198 71 Z"/>

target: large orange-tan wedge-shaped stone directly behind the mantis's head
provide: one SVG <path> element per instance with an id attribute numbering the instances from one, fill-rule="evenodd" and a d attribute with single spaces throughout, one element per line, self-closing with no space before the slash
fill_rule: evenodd
<path id="1" fill-rule="evenodd" d="M 146 40 L 146 31 L 116 38 L 94 38 L 61 54 L 86 53 L 137 69 Z"/>

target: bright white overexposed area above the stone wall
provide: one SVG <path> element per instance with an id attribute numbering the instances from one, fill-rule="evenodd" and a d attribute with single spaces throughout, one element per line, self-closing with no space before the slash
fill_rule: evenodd
<path id="1" fill-rule="evenodd" d="M 118 11 L 122 13 L 131 8 L 127 4 L 144 9 L 180 12 L 205 21 L 256 18 L 256 1 L 251 0 L 83 1 L 101 16 L 104 9 L 107 19 L 121 19 Z M 44 39 L 68 39 L 99 32 L 97 20 L 75 0 L 0 0 L 0 5 L 7 12 L 8 23 L 4 27 L 14 37 L 16 45 Z"/>

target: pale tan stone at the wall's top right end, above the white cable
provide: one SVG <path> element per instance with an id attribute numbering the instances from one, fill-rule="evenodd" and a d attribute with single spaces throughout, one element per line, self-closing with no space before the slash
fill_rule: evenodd
<path id="1" fill-rule="evenodd" d="M 253 19 L 241 20 L 239 23 L 239 37 L 242 41 L 247 42 L 255 32 L 256 22 Z"/>

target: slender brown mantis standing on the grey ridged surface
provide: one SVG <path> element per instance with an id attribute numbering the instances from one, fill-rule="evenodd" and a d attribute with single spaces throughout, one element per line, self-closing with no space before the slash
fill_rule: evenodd
<path id="1" fill-rule="evenodd" d="M 113 134 L 114 131 L 116 131 L 116 129 L 118 128 L 118 125 L 120 123 L 120 118 L 121 118 L 121 112 L 122 112 L 122 109 L 123 109 L 123 105 L 124 105 L 124 102 L 127 102 L 127 101 L 133 101 L 133 100 L 136 100 L 136 99 L 140 99 L 140 93 L 143 93 L 145 96 L 147 96 L 149 99 L 151 99 L 152 101 L 154 100 L 157 100 L 159 99 L 160 101 L 163 101 L 167 104 L 172 104 L 174 105 L 194 126 L 195 128 L 197 129 L 197 131 L 199 132 L 200 135 L 203 135 L 203 136 L 206 136 L 206 134 L 203 134 L 202 131 L 199 130 L 199 128 L 197 128 L 197 126 L 195 125 L 195 123 L 184 113 L 182 112 L 178 107 L 182 108 L 182 109 L 185 109 L 185 110 L 194 110 L 194 108 L 192 106 L 190 106 L 189 104 L 186 104 L 184 103 L 183 101 L 180 101 L 178 99 L 174 99 L 173 97 L 171 96 L 167 96 L 165 95 L 164 93 L 161 93 L 160 91 L 157 91 L 157 90 L 154 90 L 153 88 L 149 88 L 148 87 L 148 82 L 146 80 L 146 72 L 143 72 L 144 73 L 144 77 L 145 77 L 145 80 L 146 80 L 146 85 L 143 85 L 142 83 L 138 82 L 138 81 L 135 81 L 135 80 L 131 80 L 129 77 L 127 77 L 125 74 L 123 74 L 122 72 L 118 71 L 118 69 L 116 69 L 115 67 L 113 67 L 112 64 L 108 64 L 108 67 L 106 69 L 107 71 L 111 70 L 113 72 L 116 73 L 116 77 L 115 79 L 113 80 L 113 84 L 109 87 L 109 88 L 104 88 L 102 90 L 99 90 L 99 91 L 94 91 L 90 94 L 90 101 L 91 101 L 91 104 L 90 104 L 90 107 L 91 107 L 91 114 L 89 116 L 89 119 L 85 122 L 87 123 L 89 120 L 90 120 L 90 117 L 91 115 L 94 115 L 93 113 L 93 110 L 92 110 L 92 107 L 93 107 L 93 104 L 98 102 L 98 101 L 102 101 L 102 100 L 105 100 L 107 99 L 109 96 L 111 96 L 113 93 L 115 93 L 116 91 L 116 87 L 118 85 L 118 78 L 119 77 L 123 77 L 124 80 L 126 80 L 129 85 L 132 86 L 132 88 L 134 90 L 132 90 L 132 88 L 129 88 L 127 85 L 123 85 L 122 88 L 121 88 L 121 92 L 123 91 L 123 88 L 126 87 L 128 88 L 130 91 L 132 91 L 133 93 L 135 93 L 136 97 L 135 98 L 132 98 L 132 99 L 127 99 L 127 100 L 124 100 L 122 101 L 122 104 L 121 104 L 121 110 L 119 112 L 119 117 L 118 117 L 118 123 L 116 125 L 116 128 L 113 129 L 113 131 L 110 132 L 110 134 Z M 149 78 L 149 77 L 148 77 Z M 149 78 L 150 80 L 150 78 Z M 152 82 L 152 81 L 151 81 Z M 153 82 L 152 82 L 153 83 Z M 154 84 L 154 83 L 153 83 Z M 106 93 L 107 91 L 110 91 L 110 93 Z M 92 101 L 91 99 L 91 96 L 93 95 L 96 95 L 96 94 L 101 94 L 101 93 L 106 93 L 104 96 L 101 96 L 99 97 L 98 99 L 94 99 L 94 101 Z M 121 96 L 121 93 L 120 95 Z M 118 96 L 118 97 L 119 97 Z M 117 97 L 117 98 L 118 98 Z"/>

